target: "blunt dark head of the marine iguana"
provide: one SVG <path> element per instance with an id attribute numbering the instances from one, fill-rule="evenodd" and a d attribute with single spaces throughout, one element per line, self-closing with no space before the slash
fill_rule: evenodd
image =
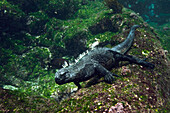
<path id="1" fill-rule="evenodd" d="M 70 82 L 70 72 L 67 68 L 62 68 L 55 73 L 55 82 L 59 85 Z"/>

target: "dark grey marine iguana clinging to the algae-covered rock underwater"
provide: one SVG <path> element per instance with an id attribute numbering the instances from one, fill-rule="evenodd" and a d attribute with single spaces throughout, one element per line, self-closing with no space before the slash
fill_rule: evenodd
<path id="1" fill-rule="evenodd" d="M 109 70 L 118 65 L 119 61 L 129 61 L 130 63 L 153 69 L 154 64 L 134 56 L 125 55 L 133 43 L 134 32 L 138 27 L 139 25 L 133 25 L 128 37 L 119 45 L 113 48 L 95 48 L 77 63 L 58 70 L 55 73 L 55 82 L 59 85 L 74 82 L 78 86 L 78 89 L 80 89 L 80 82 L 89 80 L 97 75 L 98 78 L 104 77 L 104 81 L 111 84 L 114 81 L 113 76 L 118 75 L 111 73 Z"/>

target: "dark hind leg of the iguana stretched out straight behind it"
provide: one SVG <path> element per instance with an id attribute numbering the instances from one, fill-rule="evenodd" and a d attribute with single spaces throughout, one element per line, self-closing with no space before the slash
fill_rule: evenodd
<path id="1" fill-rule="evenodd" d="M 141 60 L 141 59 L 134 57 L 134 56 L 131 56 L 131 55 L 122 55 L 120 57 L 120 59 L 121 59 L 121 61 L 129 61 L 131 63 L 139 64 L 139 65 L 142 65 L 144 67 L 151 68 L 151 69 L 153 69 L 155 67 L 154 64 L 146 62 L 145 60 Z"/>

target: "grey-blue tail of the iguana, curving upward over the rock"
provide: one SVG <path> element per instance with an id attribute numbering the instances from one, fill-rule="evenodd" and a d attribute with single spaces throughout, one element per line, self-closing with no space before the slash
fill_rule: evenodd
<path id="1" fill-rule="evenodd" d="M 133 25 L 129 32 L 128 37 L 126 40 L 119 45 L 112 48 L 113 51 L 119 52 L 121 54 L 125 54 L 129 48 L 132 46 L 133 40 L 135 38 L 135 30 L 139 27 L 139 25 Z"/>

